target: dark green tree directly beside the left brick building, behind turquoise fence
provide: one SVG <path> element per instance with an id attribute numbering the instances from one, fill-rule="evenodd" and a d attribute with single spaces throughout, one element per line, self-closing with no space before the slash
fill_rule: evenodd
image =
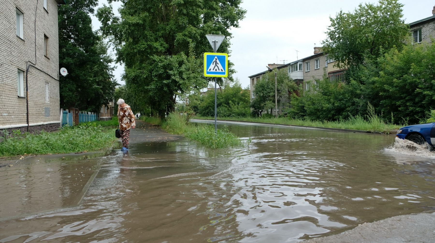
<path id="1" fill-rule="evenodd" d="M 97 0 L 69 0 L 58 6 L 59 67 L 68 76 L 60 78 L 60 107 L 97 112 L 113 99 L 112 58 L 107 45 L 92 31 L 89 13 Z"/>

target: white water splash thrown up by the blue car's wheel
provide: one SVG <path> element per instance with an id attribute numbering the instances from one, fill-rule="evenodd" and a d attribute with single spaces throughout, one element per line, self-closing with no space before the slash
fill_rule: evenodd
<path id="1" fill-rule="evenodd" d="M 385 148 L 385 152 L 395 155 L 400 154 L 402 156 L 418 156 L 435 159 L 435 152 L 432 152 L 429 148 L 430 145 L 428 145 L 428 143 L 419 145 L 407 139 L 399 139 L 396 137 L 394 144 Z"/>

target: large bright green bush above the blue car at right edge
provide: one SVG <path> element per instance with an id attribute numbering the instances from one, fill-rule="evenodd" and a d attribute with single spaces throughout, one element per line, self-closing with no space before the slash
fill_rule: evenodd
<path id="1" fill-rule="evenodd" d="M 378 113 L 391 112 L 410 123 L 424 121 L 435 104 L 435 43 L 391 49 L 378 59 L 379 73 L 369 79 Z M 386 118 L 386 117 L 384 117 Z"/>

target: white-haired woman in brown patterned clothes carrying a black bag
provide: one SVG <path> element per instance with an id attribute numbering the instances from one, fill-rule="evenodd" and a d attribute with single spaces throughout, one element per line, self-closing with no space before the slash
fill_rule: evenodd
<path id="1" fill-rule="evenodd" d="M 129 105 L 125 104 L 123 99 L 118 102 L 118 122 L 119 130 L 121 131 L 122 149 L 128 150 L 128 137 L 130 136 L 130 128 L 135 128 L 134 113 Z"/>

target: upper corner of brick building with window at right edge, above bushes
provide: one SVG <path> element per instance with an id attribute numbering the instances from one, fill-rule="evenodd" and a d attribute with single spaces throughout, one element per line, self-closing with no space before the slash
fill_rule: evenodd
<path id="1" fill-rule="evenodd" d="M 432 16 L 417 20 L 409 24 L 414 43 L 430 43 L 435 38 L 435 6 L 432 9 Z"/>

